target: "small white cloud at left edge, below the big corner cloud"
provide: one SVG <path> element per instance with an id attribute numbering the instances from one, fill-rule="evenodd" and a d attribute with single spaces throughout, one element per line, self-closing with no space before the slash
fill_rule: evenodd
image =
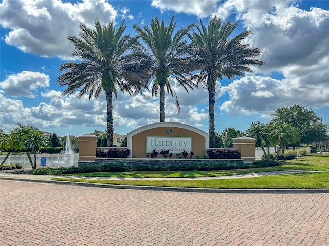
<path id="1" fill-rule="evenodd" d="M 21 73 L 9 75 L 6 80 L 0 82 L 0 88 L 4 89 L 8 96 L 34 98 L 32 91 L 38 88 L 50 86 L 49 76 L 44 73 L 23 71 Z"/>

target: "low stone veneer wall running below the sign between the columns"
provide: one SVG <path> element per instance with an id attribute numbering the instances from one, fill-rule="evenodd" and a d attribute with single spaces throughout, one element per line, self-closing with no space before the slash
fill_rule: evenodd
<path id="1" fill-rule="evenodd" d="M 196 163 L 227 163 L 236 164 L 243 167 L 243 159 L 131 159 L 131 158 L 95 158 L 95 162 L 79 162 L 79 167 L 87 165 L 106 165 L 106 164 L 116 164 L 116 165 L 157 165 L 157 166 L 167 166 L 168 162 L 172 165 L 177 166 L 189 166 Z"/>

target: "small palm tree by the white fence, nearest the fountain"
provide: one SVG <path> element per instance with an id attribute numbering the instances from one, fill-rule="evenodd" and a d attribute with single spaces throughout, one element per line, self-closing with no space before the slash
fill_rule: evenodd
<path id="1" fill-rule="evenodd" d="M 31 162 L 32 169 L 36 169 L 36 152 L 40 147 L 49 146 L 49 137 L 41 131 L 31 131 L 24 137 L 24 144 L 34 152 L 34 164 Z"/>

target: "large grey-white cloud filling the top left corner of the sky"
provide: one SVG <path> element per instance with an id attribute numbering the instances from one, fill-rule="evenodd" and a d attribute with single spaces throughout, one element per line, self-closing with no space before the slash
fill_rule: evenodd
<path id="1" fill-rule="evenodd" d="M 3 0 L 0 25 L 11 31 L 5 37 L 8 45 L 43 57 L 68 58 L 74 49 L 68 35 L 79 32 L 83 22 L 93 27 L 115 19 L 117 12 L 106 0 L 84 0 L 63 3 L 61 0 Z"/>

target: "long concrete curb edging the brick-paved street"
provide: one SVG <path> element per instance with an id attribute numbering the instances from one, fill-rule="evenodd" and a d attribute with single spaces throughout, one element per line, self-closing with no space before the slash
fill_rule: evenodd
<path id="1" fill-rule="evenodd" d="M 84 186 L 112 189 L 148 190 L 148 191 L 172 191 L 172 192 L 203 192 L 203 193 L 238 193 L 238 194 L 305 194 L 305 193 L 329 193 L 329 189 L 214 189 L 214 188 L 186 188 L 186 187 L 161 187 L 161 186 L 130 186 L 108 185 L 104 183 L 85 183 L 55 180 L 35 180 L 0 177 L 3 180 L 27 181 L 36 183 L 51 183 L 53 185 Z"/>

